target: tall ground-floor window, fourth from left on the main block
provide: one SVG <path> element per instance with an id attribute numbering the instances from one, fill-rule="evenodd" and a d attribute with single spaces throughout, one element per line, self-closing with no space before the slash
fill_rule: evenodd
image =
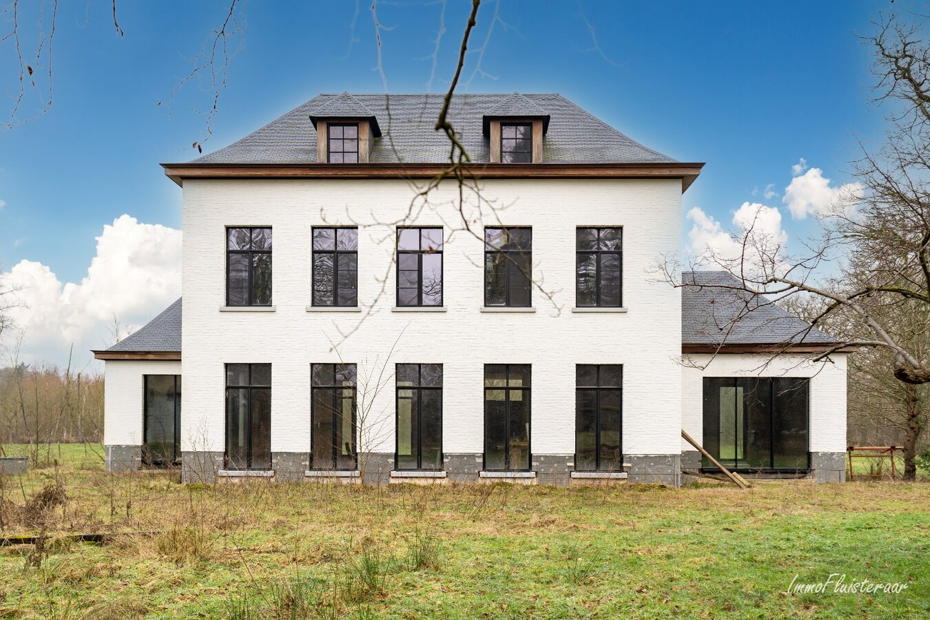
<path id="1" fill-rule="evenodd" d="M 485 469 L 530 466 L 530 365 L 485 364 Z"/>

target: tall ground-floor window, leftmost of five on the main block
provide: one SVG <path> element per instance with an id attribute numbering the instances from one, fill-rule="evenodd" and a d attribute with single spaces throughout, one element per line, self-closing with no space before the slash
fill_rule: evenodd
<path id="1" fill-rule="evenodd" d="M 226 468 L 272 468 L 272 364 L 226 364 Z"/>

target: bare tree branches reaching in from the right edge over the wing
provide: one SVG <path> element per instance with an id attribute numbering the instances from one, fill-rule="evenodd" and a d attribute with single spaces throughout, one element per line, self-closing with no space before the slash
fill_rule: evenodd
<path id="1" fill-rule="evenodd" d="M 862 194 L 841 196 L 821 215 L 821 235 L 805 244 L 802 256 L 788 255 L 753 221 L 734 234 L 741 248 L 737 256 L 709 251 L 692 265 L 736 276 L 737 284 L 721 288 L 736 289 L 746 299 L 743 315 L 791 297 L 822 299 L 823 310 L 812 317 L 812 326 L 857 329 L 844 330 L 840 343 L 817 359 L 838 350 L 880 348 L 889 353 L 887 373 L 922 385 L 930 383 L 930 351 L 911 346 L 893 323 L 898 312 L 930 312 L 930 43 L 918 34 L 923 23 L 907 24 L 892 15 L 876 27 L 877 33 L 863 39 L 875 51 L 875 101 L 893 112 L 883 148 L 877 153 L 863 149 L 856 163 Z M 818 277 L 841 265 L 846 265 L 844 277 Z M 677 286 L 694 284 L 682 281 L 681 268 L 667 259 L 659 270 Z"/>

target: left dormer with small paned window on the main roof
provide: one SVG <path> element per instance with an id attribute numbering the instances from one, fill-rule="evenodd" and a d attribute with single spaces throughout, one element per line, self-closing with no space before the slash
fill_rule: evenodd
<path id="1" fill-rule="evenodd" d="M 347 92 L 328 99 L 310 120 L 319 164 L 367 164 L 371 141 L 381 135 L 375 114 Z"/>

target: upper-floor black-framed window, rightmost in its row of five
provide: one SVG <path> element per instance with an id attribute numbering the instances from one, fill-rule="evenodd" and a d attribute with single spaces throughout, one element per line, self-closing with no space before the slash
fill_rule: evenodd
<path id="1" fill-rule="evenodd" d="M 575 305 L 619 308 L 623 305 L 623 229 L 579 228 L 576 231 Z"/>

